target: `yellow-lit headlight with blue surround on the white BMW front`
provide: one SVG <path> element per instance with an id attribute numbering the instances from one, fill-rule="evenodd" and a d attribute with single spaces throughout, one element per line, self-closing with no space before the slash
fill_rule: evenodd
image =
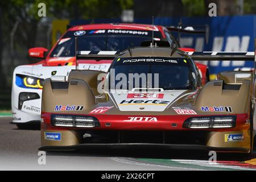
<path id="1" fill-rule="evenodd" d="M 34 88 L 34 89 L 42 89 L 43 88 L 43 79 L 26 76 L 26 75 L 16 75 L 16 85 L 23 88 Z"/>

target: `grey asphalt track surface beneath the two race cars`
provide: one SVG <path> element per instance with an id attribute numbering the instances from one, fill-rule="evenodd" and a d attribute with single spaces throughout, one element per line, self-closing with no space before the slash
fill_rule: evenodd
<path id="1" fill-rule="evenodd" d="M 90 148 L 84 151 L 47 152 L 38 164 L 40 130 L 19 130 L 11 118 L 0 116 L 0 170 L 255 170 L 256 154 L 249 157 L 159 148 Z"/>

